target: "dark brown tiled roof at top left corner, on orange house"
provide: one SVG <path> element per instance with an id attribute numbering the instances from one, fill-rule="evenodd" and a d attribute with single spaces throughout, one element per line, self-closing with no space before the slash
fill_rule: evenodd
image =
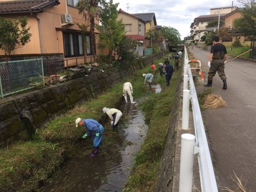
<path id="1" fill-rule="evenodd" d="M 0 14 L 40 12 L 58 4 L 60 4 L 59 0 L 0 1 Z"/>

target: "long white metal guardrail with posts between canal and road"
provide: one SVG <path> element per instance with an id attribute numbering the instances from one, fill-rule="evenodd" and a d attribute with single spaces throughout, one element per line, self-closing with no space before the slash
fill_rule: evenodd
<path id="1" fill-rule="evenodd" d="M 184 86 L 182 103 L 182 129 L 189 126 L 189 100 L 192 105 L 195 136 L 189 133 L 182 134 L 182 147 L 180 158 L 179 192 L 192 191 L 193 159 L 197 155 L 200 171 L 202 192 L 217 192 L 217 183 L 212 166 L 210 149 L 207 143 L 205 126 L 202 121 L 197 91 L 193 81 L 192 72 L 188 64 L 187 49 L 184 47 Z M 202 72 L 202 71 L 201 71 Z M 189 87 L 188 87 L 189 85 Z"/>

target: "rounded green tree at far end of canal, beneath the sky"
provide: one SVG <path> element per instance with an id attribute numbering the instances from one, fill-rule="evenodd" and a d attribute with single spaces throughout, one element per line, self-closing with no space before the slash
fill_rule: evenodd
<path id="1" fill-rule="evenodd" d="M 173 27 L 163 26 L 160 29 L 160 35 L 166 39 L 167 45 L 177 46 L 180 42 L 180 34 Z"/>

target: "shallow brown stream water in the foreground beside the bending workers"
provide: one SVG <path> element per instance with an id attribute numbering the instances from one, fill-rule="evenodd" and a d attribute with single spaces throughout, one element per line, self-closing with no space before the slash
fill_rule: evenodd
<path id="1" fill-rule="evenodd" d="M 148 126 L 136 105 L 124 104 L 119 121 L 119 137 L 107 156 L 88 156 L 68 161 L 51 183 L 41 191 L 122 191 L 134 166 L 134 155 L 142 146 Z M 107 136 L 103 138 L 107 139 Z M 111 151 L 111 149 L 110 149 Z"/>

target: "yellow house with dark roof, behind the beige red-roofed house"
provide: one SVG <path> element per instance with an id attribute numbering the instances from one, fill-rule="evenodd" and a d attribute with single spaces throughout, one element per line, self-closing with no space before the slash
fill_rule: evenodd
<path id="1" fill-rule="evenodd" d="M 152 39 L 147 36 L 147 32 L 150 29 L 157 30 L 157 19 L 154 13 L 142 13 L 142 14 L 132 14 L 134 16 L 139 17 L 143 21 L 146 22 L 146 29 L 145 29 L 145 41 L 144 46 L 152 46 Z"/>

